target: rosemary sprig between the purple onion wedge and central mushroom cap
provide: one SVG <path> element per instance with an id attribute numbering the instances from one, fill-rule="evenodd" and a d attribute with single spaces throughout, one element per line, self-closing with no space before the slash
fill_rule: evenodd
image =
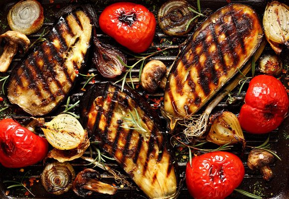
<path id="1" fill-rule="evenodd" d="M 132 56 L 134 56 L 135 58 L 139 59 L 135 64 L 133 64 L 132 66 L 128 66 L 127 64 L 125 64 L 123 62 L 123 60 L 118 56 L 118 59 L 119 61 L 125 66 L 128 68 L 127 72 L 125 73 L 125 75 L 118 81 L 116 81 L 114 84 L 117 84 L 119 82 L 122 82 L 122 91 L 124 90 L 124 86 L 125 84 L 127 84 L 129 87 L 130 85 L 128 84 L 127 82 L 127 76 L 129 75 L 129 80 L 132 84 L 132 88 L 135 89 L 135 86 L 134 86 L 134 83 L 133 83 L 133 78 L 132 78 L 132 70 L 139 64 L 140 65 L 140 72 L 139 72 L 139 80 L 141 81 L 141 75 L 142 75 L 142 71 L 143 71 L 143 67 L 144 67 L 144 63 L 146 61 L 147 58 L 149 57 L 152 57 L 153 55 L 156 55 L 158 53 L 161 53 L 165 50 L 168 50 L 168 49 L 173 49 L 173 48 L 179 48 L 179 46 L 173 46 L 173 47 L 167 47 L 167 48 L 164 48 L 162 50 L 159 50 L 159 51 L 155 51 L 155 52 L 152 52 L 152 53 L 143 53 L 143 54 L 139 54 L 139 55 L 133 55 L 133 54 L 130 54 Z"/>

